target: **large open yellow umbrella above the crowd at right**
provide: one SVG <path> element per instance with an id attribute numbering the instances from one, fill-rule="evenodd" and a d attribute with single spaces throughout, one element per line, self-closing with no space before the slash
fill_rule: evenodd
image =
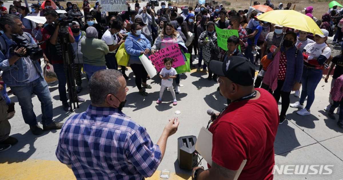
<path id="1" fill-rule="evenodd" d="M 268 11 L 257 16 L 257 19 L 313 34 L 323 34 L 311 17 L 294 10 Z"/>

